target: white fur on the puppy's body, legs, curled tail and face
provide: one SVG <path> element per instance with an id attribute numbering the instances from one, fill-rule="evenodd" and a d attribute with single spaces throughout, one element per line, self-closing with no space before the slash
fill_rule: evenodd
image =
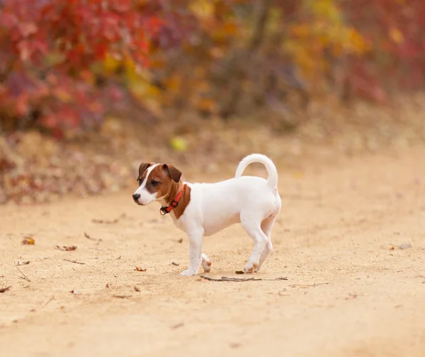
<path id="1" fill-rule="evenodd" d="M 254 162 L 266 166 L 267 180 L 256 176 L 242 176 L 246 166 Z M 242 159 L 233 179 L 217 183 L 186 182 L 191 188 L 190 203 L 179 220 L 176 220 L 171 211 L 174 224 L 186 232 L 189 239 L 189 268 L 181 275 L 194 276 L 200 266 L 204 271 L 210 271 L 210 259 L 203 253 L 203 237 L 235 223 L 241 223 L 249 237 L 254 240 L 254 250 L 244 272 L 259 271 L 273 249 L 271 228 L 282 206 L 277 183 L 276 166 L 271 159 L 261 154 L 251 154 Z M 146 191 L 142 186 L 143 183 L 137 193 Z"/>

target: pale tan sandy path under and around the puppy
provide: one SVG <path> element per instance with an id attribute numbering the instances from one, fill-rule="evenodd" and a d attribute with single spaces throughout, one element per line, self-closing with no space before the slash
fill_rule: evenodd
<path id="1" fill-rule="evenodd" d="M 179 276 L 186 237 L 132 192 L 1 207 L 0 354 L 424 356 L 424 160 L 416 147 L 279 166 L 275 250 L 255 277 L 288 280 Z M 208 276 L 237 276 L 251 246 L 239 226 L 205 239 Z"/>

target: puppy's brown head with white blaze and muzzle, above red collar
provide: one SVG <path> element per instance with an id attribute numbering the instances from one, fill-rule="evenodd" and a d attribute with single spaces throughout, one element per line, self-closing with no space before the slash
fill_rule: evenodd
<path id="1" fill-rule="evenodd" d="M 174 165 L 142 162 L 137 182 L 139 188 L 132 198 L 137 205 L 148 205 L 156 200 L 168 200 L 178 189 L 181 171 Z"/>

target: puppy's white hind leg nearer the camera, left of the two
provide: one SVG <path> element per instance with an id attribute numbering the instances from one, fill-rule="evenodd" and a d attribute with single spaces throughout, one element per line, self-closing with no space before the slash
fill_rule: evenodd
<path id="1" fill-rule="evenodd" d="M 259 267 L 261 253 L 268 242 L 268 237 L 261 229 L 261 220 L 256 220 L 256 217 L 251 217 L 251 215 L 246 215 L 246 217 L 244 217 L 243 213 L 241 213 L 241 224 L 249 237 L 254 240 L 254 250 L 252 251 L 248 263 L 244 267 L 244 272 L 254 273 L 256 268 Z"/>

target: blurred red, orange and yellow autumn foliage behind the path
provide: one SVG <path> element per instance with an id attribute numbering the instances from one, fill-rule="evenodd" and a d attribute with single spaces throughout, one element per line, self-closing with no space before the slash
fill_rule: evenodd
<path id="1" fill-rule="evenodd" d="M 0 128 L 385 102 L 424 85 L 424 35 L 423 0 L 0 0 Z"/>

